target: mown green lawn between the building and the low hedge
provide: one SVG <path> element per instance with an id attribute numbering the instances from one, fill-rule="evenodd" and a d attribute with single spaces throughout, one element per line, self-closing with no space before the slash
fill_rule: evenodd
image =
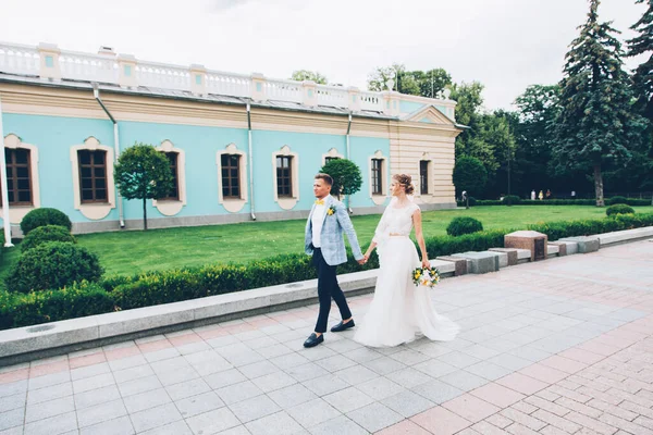
<path id="1" fill-rule="evenodd" d="M 652 213 L 653 207 L 638 207 L 638 213 Z M 605 209 L 588 206 L 495 206 L 469 210 L 423 213 L 424 235 L 446 234 L 454 216 L 472 216 L 485 229 L 523 228 L 529 223 L 578 219 L 601 219 Z M 370 243 L 379 215 L 353 216 L 362 246 Z M 241 224 L 128 231 L 78 236 L 84 246 L 100 257 L 108 274 L 133 274 L 185 265 L 246 262 L 279 253 L 303 252 L 305 220 L 248 222 Z M 0 278 L 17 260 L 20 248 L 5 251 Z M 3 287 L 3 284 L 0 284 Z"/>

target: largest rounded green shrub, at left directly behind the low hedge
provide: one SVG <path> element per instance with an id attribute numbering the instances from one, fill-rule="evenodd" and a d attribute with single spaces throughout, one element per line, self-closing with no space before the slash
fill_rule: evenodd
<path id="1" fill-rule="evenodd" d="M 4 279 L 12 291 L 58 289 L 86 279 L 95 283 L 104 270 L 98 256 L 65 241 L 48 241 L 21 256 Z"/>

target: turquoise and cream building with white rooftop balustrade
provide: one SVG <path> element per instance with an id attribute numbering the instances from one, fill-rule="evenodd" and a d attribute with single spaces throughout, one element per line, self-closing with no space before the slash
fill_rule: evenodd
<path id="1" fill-rule="evenodd" d="M 392 84 L 389 84 L 392 88 Z M 329 159 L 350 159 L 362 188 L 353 213 L 378 213 L 393 173 L 422 209 L 455 207 L 455 102 L 395 91 L 279 80 L 116 55 L 0 45 L 2 220 L 14 236 L 52 207 L 74 233 L 140 228 L 141 202 L 120 197 L 113 164 L 135 142 L 165 153 L 175 175 L 150 200 L 148 226 L 298 219 Z M 1 160 L 1 159 L 0 159 Z"/>

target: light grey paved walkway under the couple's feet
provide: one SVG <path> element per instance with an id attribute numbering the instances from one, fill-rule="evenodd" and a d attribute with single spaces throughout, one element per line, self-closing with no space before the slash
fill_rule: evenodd
<path id="1" fill-rule="evenodd" d="M 307 350 L 308 307 L 4 368 L 0 434 L 653 434 L 653 243 L 434 299 L 457 340 Z"/>

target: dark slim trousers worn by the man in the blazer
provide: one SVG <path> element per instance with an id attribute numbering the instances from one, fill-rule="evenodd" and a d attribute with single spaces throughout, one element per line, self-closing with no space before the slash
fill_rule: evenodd
<path id="1" fill-rule="evenodd" d="M 329 312 L 331 311 L 331 298 L 335 300 L 343 320 L 349 319 L 352 311 L 349 311 L 349 306 L 347 306 L 345 294 L 337 285 L 337 278 L 335 277 L 336 266 L 326 264 L 320 248 L 313 249 L 313 265 L 318 270 L 318 298 L 320 299 L 320 314 L 316 324 L 316 333 L 325 333 Z"/>

